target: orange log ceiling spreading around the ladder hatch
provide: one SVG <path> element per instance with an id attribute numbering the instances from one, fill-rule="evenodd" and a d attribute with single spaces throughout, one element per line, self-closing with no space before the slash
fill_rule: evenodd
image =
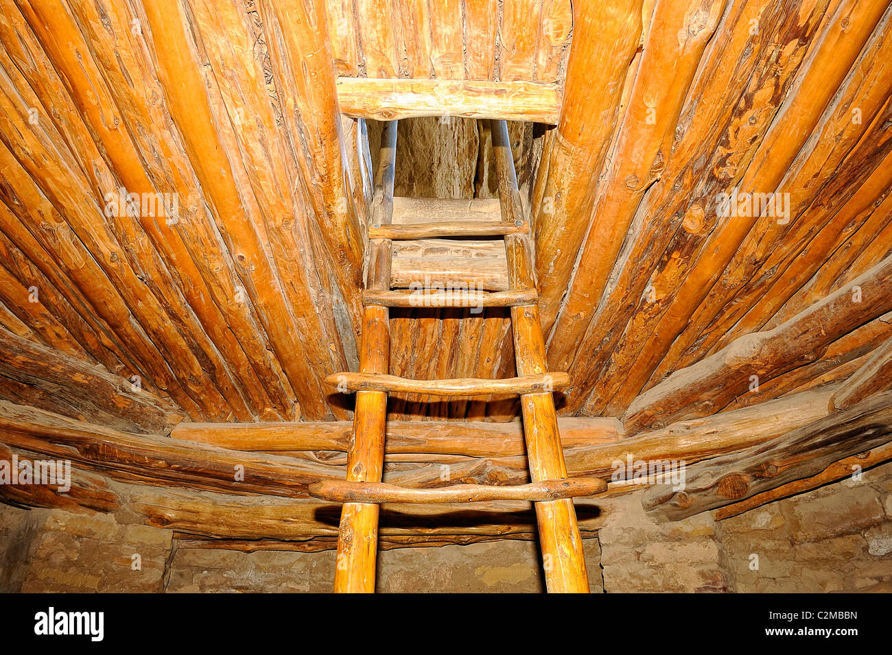
<path id="1" fill-rule="evenodd" d="M 512 135 L 563 413 L 652 427 L 761 403 L 847 378 L 892 337 L 871 296 L 892 252 L 888 2 L 615 0 L 574 20 L 549 0 L 0 5 L 14 403 L 138 431 L 70 390 L 93 380 L 151 405 L 145 431 L 349 417 L 323 380 L 356 365 L 372 158 L 339 76 L 560 87 L 557 126 Z M 128 215 L 121 189 L 175 211 Z M 788 213 L 723 216 L 731 190 Z M 862 274 L 864 300 L 827 309 Z M 392 313 L 392 373 L 514 373 L 503 310 L 425 311 Z M 670 407 L 667 389 L 696 396 Z M 392 416 L 516 416 L 422 401 Z"/>

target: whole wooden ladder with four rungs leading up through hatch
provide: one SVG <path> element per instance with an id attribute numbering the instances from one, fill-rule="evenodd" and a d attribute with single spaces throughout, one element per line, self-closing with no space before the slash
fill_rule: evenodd
<path id="1" fill-rule="evenodd" d="M 529 500 L 535 504 L 545 579 L 549 592 L 588 593 L 589 582 L 576 523 L 573 497 L 603 492 L 598 478 L 566 479 L 552 392 L 569 381 L 549 373 L 539 321 L 533 249 L 523 220 L 514 160 L 504 120 L 491 121 L 499 181 L 500 222 L 392 225 L 396 121 L 384 125 L 376 171 L 372 223 L 368 231 L 367 291 L 363 297 L 359 373 L 335 373 L 327 381 L 340 391 L 356 391 L 347 480 L 310 486 L 310 494 L 343 503 L 338 536 L 335 592 L 375 591 L 378 512 L 382 503 L 471 503 Z M 517 377 L 503 380 L 408 380 L 389 375 L 388 307 L 413 307 L 412 291 L 391 290 L 392 240 L 441 236 L 501 235 L 508 261 L 509 291 L 475 291 L 450 307 L 510 307 Z M 428 299 L 445 291 L 431 291 Z M 412 489 L 381 481 L 387 394 L 424 393 L 440 397 L 519 394 L 532 483 L 516 486 L 453 485 Z"/>

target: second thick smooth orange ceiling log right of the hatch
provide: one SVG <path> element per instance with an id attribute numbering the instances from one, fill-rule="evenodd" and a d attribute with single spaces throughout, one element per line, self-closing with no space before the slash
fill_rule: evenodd
<path id="1" fill-rule="evenodd" d="M 556 370 L 566 371 L 573 364 L 632 217 L 644 192 L 663 172 L 682 103 L 725 4 L 725 0 L 706 6 L 700 0 L 657 3 L 615 154 L 607 161 L 607 177 L 596 196 L 591 229 L 549 340 L 549 364 Z"/>

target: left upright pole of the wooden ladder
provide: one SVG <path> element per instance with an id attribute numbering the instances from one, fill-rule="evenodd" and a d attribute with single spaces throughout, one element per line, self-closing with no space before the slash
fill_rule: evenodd
<path id="1" fill-rule="evenodd" d="M 381 156 L 372 200 L 373 225 L 389 225 L 393 215 L 393 175 L 396 160 L 397 121 L 384 124 Z M 391 241 L 370 239 L 366 288 L 390 291 Z M 362 310 L 359 346 L 360 373 L 390 373 L 390 327 L 387 307 Z M 347 479 L 380 482 L 384 469 L 384 434 L 387 394 L 359 391 L 353 412 L 353 430 L 347 454 Z M 346 503 L 341 512 L 335 566 L 335 593 L 375 592 L 375 569 L 380 505 Z"/>

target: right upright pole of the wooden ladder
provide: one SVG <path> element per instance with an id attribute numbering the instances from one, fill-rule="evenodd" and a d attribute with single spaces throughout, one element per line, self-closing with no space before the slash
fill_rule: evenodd
<path id="1" fill-rule="evenodd" d="M 504 120 L 491 120 L 492 148 L 496 156 L 502 221 L 515 224 L 524 217 L 520 192 Z M 508 286 L 535 289 L 533 242 L 529 234 L 507 234 Z M 547 373 L 545 340 L 538 305 L 511 307 L 517 375 Z M 551 393 L 521 396 L 524 438 L 533 482 L 566 478 L 564 451 L 558 435 L 558 414 Z M 589 593 L 582 552 L 582 537 L 570 499 L 537 502 L 536 519 L 549 593 Z"/>

